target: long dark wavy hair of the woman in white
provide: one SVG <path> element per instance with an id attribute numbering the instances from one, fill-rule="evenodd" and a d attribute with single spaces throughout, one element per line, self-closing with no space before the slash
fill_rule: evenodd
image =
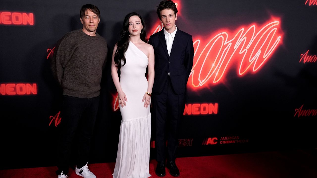
<path id="1" fill-rule="evenodd" d="M 120 40 L 117 42 L 118 48 L 114 54 L 114 59 L 113 59 L 115 66 L 118 68 L 121 68 L 122 66 L 126 64 L 126 57 L 124 54 L 126 53 L 126 50 L 129 47 L 129 40 L 130 40 L 129 20 L 131 16 L 138 16 L 141 19 L 141 24 L 143 25 L 143 29 L 141 30 L 140 38 L 142 41 L 145 41 L 146 30 L 145 30 L 145 24 L 143 22 L 142 17 L 136 12 L 131 12 L 127 14 L 123 21 L 122 30 L 120 32 Z M 123 65 L 121 65 L 121 60 L 123 61 Z"/>

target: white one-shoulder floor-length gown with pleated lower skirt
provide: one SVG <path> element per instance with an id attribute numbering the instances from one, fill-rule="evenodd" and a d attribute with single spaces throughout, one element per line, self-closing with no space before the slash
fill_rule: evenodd
<path id="1" fill-rule="evenodd" d="M 126 94 L 122 116 L 114 178 L 147 178 L 150 162 L 151 112 L 143 107 L 147 91 L 145 77 L 147 56 L 131 41 L 126 50 L 126 64 L 120 69 L 120 85 Z"/>

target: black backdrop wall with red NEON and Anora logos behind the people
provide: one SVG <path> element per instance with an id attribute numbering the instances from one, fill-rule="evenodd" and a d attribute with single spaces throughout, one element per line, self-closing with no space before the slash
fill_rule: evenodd
<path id="1" fill-rule="evenodd" d="M 79 10 L 85 3 L 99 7 L 101 20 L 97 32 L 106 38 L 109 51 L 109 60 L 102 77 L 100 109 L 94 130 L 90 163 L 115 161 L 120 112 L 113 109 L 116 94 L 110 75 L 110 56 L 127 13 L 136 11 L 141 14 L 146 22 L 147 35 L 155 31 L 160 25 L 156 15 L 156 6 L 159 2 L 0 2 L 0 134 L 3 150 L 1 168 L 55 165 L 56 150 L 59 146 L 59 125 L 56 123 L 55 126 L 55 119 L 60 119 L 56 114 L 61 109 L 61 90 L 50 72 L 49 60 L 54 52 L 55 43 L 67 32 L 82 27 Z M 179 9 L 176 25 L 193 36 L 197 52 L 194 64 L 199 59 L 188 83 L 187 112 L 180 130 L 178 156 L 316 147 L 316 4 L 309 5 L 309 2 L 313 2 L 309 0 L 307 3 L 305 0 L 175 2 L 178 3 Z M 14 12 L 17 13 L 14 15 Z M 26 13 L 26 16 L 23 16 L 23 13 Z M 33 18 L 30 13 L 33 13 Z M 25 17 L 29 20 L 25 21 L 26 25 L 22 23 Z M 34 20 L 34 24 L 30 19 Z M 260 58 L 259 62 L 248 63 L 249 58 L 243 60 L 243 55 L 237 54 L 236 51 L 232 59 L 227 61 L 228 67 L 220 67 L 225 72 L 219 81 L 213 83 L 213 73 L 210 79 L 205 80 L 206 83 L 202 85 L 201 82 L 201 86 L 198 86 L 199 79 L 203 81 L 205 76 L 209 76 L 207 73 L 211 68 L 211 62 L 215 61 L 214 57 L 219 52 L 215 47 L 207 55 L 210 49 L 207 43 L 212 37 L 226 32 L 229 41 L 240 29 L 244 29 L 245 33 L 254 25 L 255 33 L 258 33 L 265 25 L 276 21 L 278 25 L 272 27 L 276 28 L 276 31 L 272 31 L 276 33 L 265 34 L 272 37 L 272 43 L 265 43 L 264 46 L 271 47 L 274 41 L 280 41 L 262 65 L 260 64 L 263 58 Z M 232 41 L 228 56 L 234 53 L 232 48 L 237 38 Z M 250 37 L 248 40 L 250 41 Z M 255 37 L 256 40 L 259 39 Z M 217 44 L 221 45 L 221 41 Z M 206 45 L 208 48 L 202 52 Z M 228 47 L 228 44 L 224 47 Z M 252 45 L 248 50 L 251 48 Z M 262 56 L 266 52 L 263 47 Z M 203 55 L 199 58 L 200 54 Z M 202 61 L 206 55 L 203 65 Z M 307 60 L 309 56 L 311 61 Z M 251 64 L 243 74 L 239 74 L 241 63 L 244 68 Z M 253 66 L 260 67 L 253 72 Z M 198 76 L 201 68 L 202 75 Z M 16 89 L 16 84 L 22 85 L 18 85 Z M 23 87 L 27 88 L 27 85 L 23 84 L 33 87 L 33 84 L 36 84 L 36 92 L 20 95 L 26 91 Z M 204 103 L 207 105 L 202 105 Z M 207 106 L 214 109 L 214 112 L 204 114 Z M 60 121 L 63 122 L 63 118 Z M 154 131 L 152 129 L 152 133 Z M 151 140 L 155 138 L 152 137 Z M 151 148 L 152 159 L 155 158 L 153 153 L 155 148 Z"/>

